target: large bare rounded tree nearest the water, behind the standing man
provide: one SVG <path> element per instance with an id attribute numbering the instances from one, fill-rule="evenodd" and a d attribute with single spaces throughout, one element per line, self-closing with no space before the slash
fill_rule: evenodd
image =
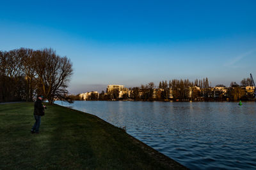
<path id="1" fill-rule="evenodd" d="M 51 48 L 37 51 L 36 74 L 38 76 L 37 91 L 52 104 L 56 98 L 67 101 L 67 83 L 72 75 L 72 63 L 67 57 L 60 57 Z"/>

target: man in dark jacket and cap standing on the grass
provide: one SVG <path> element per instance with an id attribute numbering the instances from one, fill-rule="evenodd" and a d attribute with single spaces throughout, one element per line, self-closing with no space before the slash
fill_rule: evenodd
<path id="1" fill-rule="evenodd" d="M 35 124 L 33 125 L 32 129 L 31 129 L 31 133 L 39 133 L 39 127 L 41 124 L 41 117 L 44 116 L 44 108 L 45 105 L 42 105 L 42 100 L 43 100 L 43 96 L 42 95 L 38 95 L 36 98 L 36 102 L 34 104 L 34 117 L 35 117 Z"/>

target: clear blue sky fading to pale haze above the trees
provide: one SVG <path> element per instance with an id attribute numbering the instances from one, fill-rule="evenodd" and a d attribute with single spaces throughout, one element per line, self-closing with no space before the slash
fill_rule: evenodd
<path id="1" fill-rule="evenodd" d="M 71 93 L 256 79 L 256 1 L 1 1 L 0 50 L 53 48 Z"/>

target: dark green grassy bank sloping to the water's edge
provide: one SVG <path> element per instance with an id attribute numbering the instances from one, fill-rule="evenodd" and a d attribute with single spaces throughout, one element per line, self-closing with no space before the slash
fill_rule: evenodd
<path id="1" fill-rule="evenodd" d="M 33 103 L 0 105 L 0 169 L 186 169 L 88 113 L 47 106 L 33 123 Z"/>

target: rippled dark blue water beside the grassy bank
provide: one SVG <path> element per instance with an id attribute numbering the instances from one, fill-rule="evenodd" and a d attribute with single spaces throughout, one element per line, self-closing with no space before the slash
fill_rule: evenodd
<path id="1" fill-rule="evenodd" d="M 75 101 L 190 169 L 256 169 L 256 103 Z"/>

